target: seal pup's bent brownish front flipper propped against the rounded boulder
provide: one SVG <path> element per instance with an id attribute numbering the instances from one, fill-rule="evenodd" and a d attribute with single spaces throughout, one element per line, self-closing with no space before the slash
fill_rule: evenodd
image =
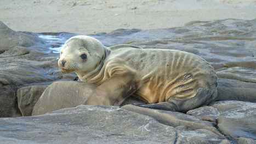
<path id="1" fill-rule="evenodd" d="M 120 67 L 114 62 L 107 64 L 110 78 L 100 84 L 90 95 L 84 105 L 120 106 L 124 100 L 138 90 L 138 74 L 127 67 Z"/>

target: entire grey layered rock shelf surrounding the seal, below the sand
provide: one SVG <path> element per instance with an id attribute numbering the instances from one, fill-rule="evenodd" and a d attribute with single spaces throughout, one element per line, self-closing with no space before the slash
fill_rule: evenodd
<path id="1" fill-rule="evenodd" d="M 1 27 L 5 27 L 0 29 L 5 34 L 0 33 L 0 117 L 29 115 L 43 91 L 36 85 L 75 79 L 75 74 L 56 74 L 58 54 L 50 52 L 76 34 L 19 33 L 3 24 Z M 22 43 L 16 43 L 17 34 L 25 38 Z M 5 35 L 12 39 L 5 39 Z M 43 113 L 75 108 L 35 117 L 1 118 L 2 143 L 255 143 L 256 19 L 197 21 L 186 27 L 120 29 L 92 36 L 106 46 L 134 44 L 203 57 L 217 71 L 220 101 L 186 114 L 132 105 L 75 107 L 85 99 L 87 86 L 57 82 L 47 88 L 35 108 L 47 108 Z M 126 104 L 138 102 L 128 99 Z"/>

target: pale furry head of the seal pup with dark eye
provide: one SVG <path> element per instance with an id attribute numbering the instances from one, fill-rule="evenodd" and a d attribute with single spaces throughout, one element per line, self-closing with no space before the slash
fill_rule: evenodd
<path id="1" fill-rule="evenodd" d="M 71 37 L 60 50 L 58 65 L 64 73 L 88 73 L 103 60 L 104 51 L 104 45 L 93 37 Z"/>

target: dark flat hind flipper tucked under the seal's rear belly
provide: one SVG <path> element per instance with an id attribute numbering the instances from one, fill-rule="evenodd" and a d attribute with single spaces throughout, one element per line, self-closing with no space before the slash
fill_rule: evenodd
<path id="1" fill-rule="evenodd" d="M 160 102 L 160 103 L 153 103 L 148 105 L 141 105 L 141 104 L 133 104 L 134 106 L 139 107 L 146 107 L 146 108 L 152 108 L 156 110 L 164 110 L 164 111 L 173 111 L 173 112 L 180 112 L 179 108 L 175 103 L 173 102 Z"/>

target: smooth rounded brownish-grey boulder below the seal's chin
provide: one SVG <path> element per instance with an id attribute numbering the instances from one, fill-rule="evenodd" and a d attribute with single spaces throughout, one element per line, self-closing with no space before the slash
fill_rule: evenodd
<path id="1" fill-rule="evenodd" d="M 33 108 L 32 116 L 81 105 L 98 85 L 84 82 L 54 82 L 43 92 Z M 128 103 L 145 103 L 135 97 L 124 101 Z"/>

